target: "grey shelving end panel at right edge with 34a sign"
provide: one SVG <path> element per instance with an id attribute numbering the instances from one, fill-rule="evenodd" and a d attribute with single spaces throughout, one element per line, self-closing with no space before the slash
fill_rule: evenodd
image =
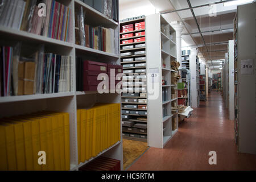
<path id="1" fill-rule="evenodd" d="M 237 6 L 234 19 L 234 137 L 237 151 L 249 154 L 256 154 L 255 7 L 256 3 Z"/>

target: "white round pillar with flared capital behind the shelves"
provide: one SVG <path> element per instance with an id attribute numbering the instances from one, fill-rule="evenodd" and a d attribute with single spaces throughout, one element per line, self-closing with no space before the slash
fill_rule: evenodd
<path id="1" fill-rule="evenodd" d="M 180 63 L 181 68 L 181 32 L 183 31 L 184 25 L 181 22 L 171 22 L 171 26 L 174 27 L 176 31 L 176 57 L 177 61 Z"/>

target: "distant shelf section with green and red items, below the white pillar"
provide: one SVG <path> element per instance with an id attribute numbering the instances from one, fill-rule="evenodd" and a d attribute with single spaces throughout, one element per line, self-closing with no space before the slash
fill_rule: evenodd
<path id="1" fill-rule="evenodd" d="M 179 69 L 179 75 L 181 78 L 177 85 L 178 105 L 191 106 L 190 71 Z"/>

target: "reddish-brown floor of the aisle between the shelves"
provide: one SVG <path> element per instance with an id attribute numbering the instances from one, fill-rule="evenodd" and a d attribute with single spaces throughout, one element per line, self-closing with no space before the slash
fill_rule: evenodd
<path id="1" fill-rule="evenodd" d="M 209 165 L 209 151 L 217 165 Z M 149 148 L 128 170 L 256 170 L 256 155 L 237 153 L 234 122 L 220 93 L 211 92 L 164 149 Z"/>

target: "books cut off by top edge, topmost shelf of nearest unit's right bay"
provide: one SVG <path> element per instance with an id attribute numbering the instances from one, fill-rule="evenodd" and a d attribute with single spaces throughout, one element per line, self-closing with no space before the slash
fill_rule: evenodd
<path id="1" fill-rule="evenodd" d="M 100 13 L 103 13 L 104 15 L 108 16 L 110 19 L 113 19 L 116 22 L 118 22 L 118 19 L 119 19 L 118 0 L 80 0 L 80 1 L 100 11 Z"/>

